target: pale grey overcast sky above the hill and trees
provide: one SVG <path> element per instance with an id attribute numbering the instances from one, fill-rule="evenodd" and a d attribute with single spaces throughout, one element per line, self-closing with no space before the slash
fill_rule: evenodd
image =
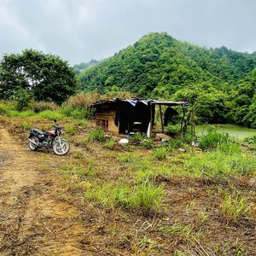
<path id="1" fill-rule="evenodd" d="M 41 49 L 71 65 L 148 32 L 206 47 L 256 50 L 255 0 L 0 0 L 0 55 Z"/>

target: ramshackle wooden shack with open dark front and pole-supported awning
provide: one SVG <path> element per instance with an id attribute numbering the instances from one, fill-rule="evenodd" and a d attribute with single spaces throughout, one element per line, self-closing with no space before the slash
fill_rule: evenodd
<path id="1" fill-rule="evenodd" d="M 131 131 L 148 133 L 154 137 L 155 110 L 160 108 L 160 121 L 164 132 L 164 118 L 162 106 L 179 106 L 183 108 L 183 119 L 188 102 L 160 102 L 140 98 L 113 99 L 104 102 L 96 102 L 91 106 L 95 112 L 96 126 L 101 126 L 104 131 L 117 134 L 127 134 Z M 181 132 L 183 132 L 183 119 L 181 120 Z"/>

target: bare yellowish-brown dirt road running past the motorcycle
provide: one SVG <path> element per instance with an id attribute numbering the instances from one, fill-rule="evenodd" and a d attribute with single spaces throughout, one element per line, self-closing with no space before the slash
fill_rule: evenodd
<path id="1" fill-rule="evenodd" d="M 0 255 L 90 255 L 79 248 L 78 212 L 58 200 L 56 174 L 44 170 L 63 161 L 30 151 L 0 122 Z"/>

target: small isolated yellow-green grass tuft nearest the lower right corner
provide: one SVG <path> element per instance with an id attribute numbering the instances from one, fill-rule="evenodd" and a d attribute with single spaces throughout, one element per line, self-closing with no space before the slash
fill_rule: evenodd
<path id="1" fill-rule="evenodd" d="M 221 205 L 221 211 L 227 222 L 235 223 L 239 218 L 249 212 L 252 205 L 247 203 L 247 199 L 241 194 L 226 194 Z"/>

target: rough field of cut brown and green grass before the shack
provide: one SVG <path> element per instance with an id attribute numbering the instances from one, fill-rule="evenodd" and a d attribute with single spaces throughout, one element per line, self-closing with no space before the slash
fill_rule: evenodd
<path id="1" fill-rule="evenodd" d="M 142 135 L 121 146 L 83 111 L 1 106 L 0 118 L 24 147 L 32 127 L 49 129 L 53 119 L 63 126 L 70 153 L 59 166 L 42 160 L 38 168 L 54 172 L 61 180 L 56 196 L 79 209 L 90 229 L 84 250 L 101 244 L 114 255 L 256 253 L 253 150 L 215 131 L 200 147 L 191 137 L 163 144 Z"/>

